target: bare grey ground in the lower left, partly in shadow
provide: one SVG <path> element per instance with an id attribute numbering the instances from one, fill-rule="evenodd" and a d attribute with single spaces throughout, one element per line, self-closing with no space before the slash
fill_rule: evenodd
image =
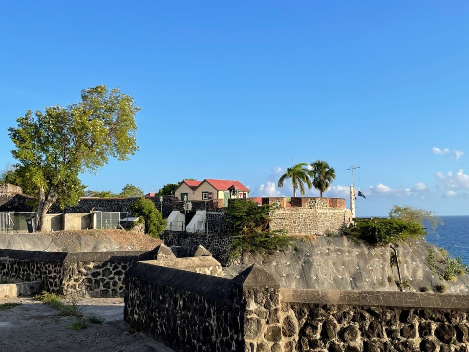
<path id="1" fill-rule="evenodd" d="M 1 300 L 19 306 L 0 311 L 0 352 L 172 352 L 139 333 L 130 333 L 123 321 L 122 298 L 85 298 L 78 301 L 85 316 L 94 314 L 102 324 L 84 330 L 67 329 L 76 318 L 31 298 Z"/>

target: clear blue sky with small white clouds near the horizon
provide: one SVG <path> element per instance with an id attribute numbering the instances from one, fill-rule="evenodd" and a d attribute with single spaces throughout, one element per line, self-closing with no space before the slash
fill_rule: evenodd
<path id="1" fill-rule="evenodd" d="M 467 1 L 67 2 L 0 3 L 0 166 L 27 109 L 106 84 L 142 108 L 140 152 L 90 189 L 223 178 L 290 196 L 280 170 L 321 158 L 329 196 L 361 166 L 359 216 L 469 214 Z"/>

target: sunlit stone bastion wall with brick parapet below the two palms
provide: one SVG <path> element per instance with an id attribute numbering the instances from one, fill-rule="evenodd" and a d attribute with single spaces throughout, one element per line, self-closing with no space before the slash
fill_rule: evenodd
<path id="1" fill-rule="evenodd" d="M 304 197 L 292 200 L 292 207 L 280 208 L 272 215 L 271 230 L 283 229 L 289 235 L 324 235 L 326 231 L 341 232 L 352 222 L 345 199 Z"/>

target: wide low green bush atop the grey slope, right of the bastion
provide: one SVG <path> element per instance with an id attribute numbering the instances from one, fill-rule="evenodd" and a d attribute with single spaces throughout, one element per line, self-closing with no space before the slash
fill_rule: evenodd
<path id="1" fill-rule="evenodd" d="M 355 226 L 344 229 L 343 233 L 371 244 L 387 244 L 426 235 L 421 224 L 400 219 L 356 219 Z"/>

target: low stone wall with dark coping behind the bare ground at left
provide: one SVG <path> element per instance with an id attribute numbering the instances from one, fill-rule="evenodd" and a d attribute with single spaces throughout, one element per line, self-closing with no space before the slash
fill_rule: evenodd
<path id="1" fill-rule="evenodd" d="M 42 281 L 46 291 L 113 297 L 124 293 L 124 273 L 134 262 L 154 259 L 153 251 L 57 253 L 0 249 L 0 276 Z"/>

